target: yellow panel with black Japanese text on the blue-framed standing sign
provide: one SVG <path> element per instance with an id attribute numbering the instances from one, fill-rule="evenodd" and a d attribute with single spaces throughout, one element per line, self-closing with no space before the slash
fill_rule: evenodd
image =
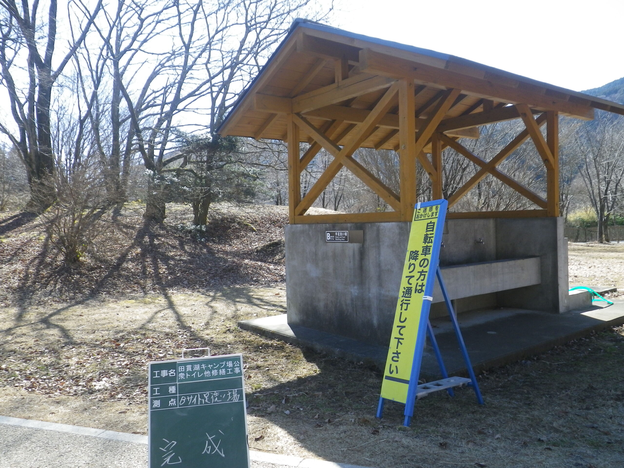
<path id="1" fill-rule="evenodd" d="M 381 384 L 382 398 L 406 403 L 410 380 L 417 382 L 445 215 L 446 200 L 419 203 L 414 210 Z"/>

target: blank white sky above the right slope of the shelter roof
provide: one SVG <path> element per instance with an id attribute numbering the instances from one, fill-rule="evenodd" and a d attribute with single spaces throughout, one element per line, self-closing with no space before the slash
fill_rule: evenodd
<path id="1" fill-rule="evenodd" d="M 624 0 L 341 0 L 331 26 L 572 90 L 624 77 Z"/>

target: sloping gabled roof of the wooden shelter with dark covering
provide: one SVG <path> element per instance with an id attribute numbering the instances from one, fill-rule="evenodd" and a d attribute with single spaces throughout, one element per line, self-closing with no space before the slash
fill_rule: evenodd
<path id="1" fill-rule="evenodd" d="M 285 140 L 287 115 L 296 112 L 317 127 L 338 120 L 342 124 L 336 134 L 348 135 L 384 90 L 401 78 L 414 79 L 416 117 L 422 120 L 445 90 L 461 89 L 439 126 L 456 137 L 476 138 L 477 125 L 519 117 L 509 104 L 586 120 L 593 119 L 594 109 L 624 115 L 624 105 L 606 99 L 461 57 L 297 19 L 217 132 Z M 396 149 L 398 120 L 396 108 L 391 109 L 361 146 Z M 310 136 L 301 134 L 302 140 Z"/>

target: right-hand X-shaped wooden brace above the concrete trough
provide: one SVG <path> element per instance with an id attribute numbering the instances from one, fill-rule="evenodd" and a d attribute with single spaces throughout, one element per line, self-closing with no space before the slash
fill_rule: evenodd
<path id="1" fill-rule="evenodd" d="M 530 117 L 530 119 L 533 120 L 532 117 Z M 537 127 L 537 132 L 541 135 L 542 133 L 539 131 L 539 128 L 544 124 L 544 122 L 546 122 L 546 114 L 540 115 L 537 118 L 537 120 L 533 120 L 533 122 L 535 124 L 535 127 Z M 477 183 L 479 183 L 480 180 L 482 180 L 488 174 L 494 175 L 494 177 L 506 183 L 507 185 L 509 185 L 509 187 L 513 188 L 520 194 L 524 195 L 524 197 L 529 198 L 529 200 L 535 203 L 535 205 L 542 207 L 542 208 L 547 207 L 547 202 L 546 200 L 544 200 L 544 198 L 537 195 L 537 193 L 532 192 L 532 190 L 529 190 L 529 188 L 525 187 L 521 183 L 516 182 L 514 179 L 512 179 L 505 173 L 500 172 L 496 168 L 497 165 L 503 162 L 503 160 L 507 156 L 512 154 L 520 145 L 522 145 L 525 142 L 525 140 L 529 138 L 530 130 L 528 129 L 528 127 L 527 129 L 520 132 L 520 134 L 518 134 L 517 137 L 515 137 L 511 142 L 509 142 L 509 144 L 507 144 L 502 150 L 499 151 L 497 155 L 495 155 L 489 161 L 483 160 L 482 158 L 475 155 L 470 150 L 463 147 L 456 141 L 450 139 L 446 135 L 444 134 L 440 134 L 440 135 L 441 135 L 440 139 L 444 141 L 444 143 L 449 145 L 449 147 L 456 150 L 459 154 L 464 155 L 464 157 L 468 158 L 469 160 L 471 160 L 472 162 L 480 166 L 479 171 L 477 171 L 477 173 L 475 173 L 475 175 L 473 175 L 468 182 L 464 183 L 464 185 L 462 185 L 462 187 L 460 187 L 459 190 L 457 190 L 457 192 L 453 193 L 453 195 L 449 197 L 449 200 L 448 200 L 449 208 L 455 205 L 459 201 L 460 198 L 466 195 L 466 193 L 470 190 L 470 188 L 477 185 Z"/>

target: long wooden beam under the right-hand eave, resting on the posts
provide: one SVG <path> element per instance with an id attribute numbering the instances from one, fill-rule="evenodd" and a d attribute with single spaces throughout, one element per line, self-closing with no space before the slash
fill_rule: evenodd
<path id="1" fill-rule="evenodd" d="M 534 107 L 558 110 L 580 119 L 593 119 L 593 108 L 575 104 L 569 100 L 543 94 L 545 89 L 514 87 L 503 84 L 505 80 L 484 79 L 450 70 L 441 69 L 420 62 L 362 49 L 359 51 L 359 67 L 362 72 L 391 78 L 410 77 L 419 83 L 434 87 L 461 89 L 464 94 L 497 101 L 522 104 L 529 102 Z M 510 84 L 515 84 L 510 80 Z"/>

